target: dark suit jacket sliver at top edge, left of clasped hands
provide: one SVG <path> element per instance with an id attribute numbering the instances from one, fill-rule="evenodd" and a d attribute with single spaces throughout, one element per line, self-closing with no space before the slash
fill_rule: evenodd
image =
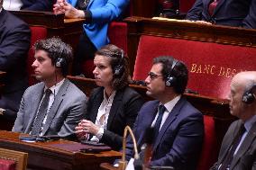
<path id="1" fill-rule="evenodd" d="M 52 11 L 53 4 L 56 0 L 22 0 L 22 10 L 31 11 Z"/>

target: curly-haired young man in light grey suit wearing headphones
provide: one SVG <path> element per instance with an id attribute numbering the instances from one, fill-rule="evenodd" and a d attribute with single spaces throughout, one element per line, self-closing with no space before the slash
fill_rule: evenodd
<path id="1" fill-rule="evenodd" d="M 34 136 L 70 137 L 84 117 L 87 97 L 67 78 L 72 50 L 60 39 L 39 40 L 34 45 L 34 73 L 41 83 L 23 94 L 13 131 Z"/>

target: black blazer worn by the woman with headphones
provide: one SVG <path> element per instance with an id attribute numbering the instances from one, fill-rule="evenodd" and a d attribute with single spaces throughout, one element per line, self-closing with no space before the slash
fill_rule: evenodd
<path id="1" fill-rule="evenodd" d="M 87 104 L 87 120 L 96 121 L 98 108 L 104 98 L 103 93 L 104 88 L 98 87 L 90 95 Z M 114 96 L 106 130 L 100 142 L 105 143 L 115 150 L 120 149 L 123 142 L 123 130 L 127 125 L 133 127 L 133 123 L 143 103 L 142 96 L 132 88 L 127 86 L 122 90 L 118 90 Z"/>

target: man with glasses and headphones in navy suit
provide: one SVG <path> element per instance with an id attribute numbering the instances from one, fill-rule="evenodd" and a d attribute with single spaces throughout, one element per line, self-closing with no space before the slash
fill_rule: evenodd
<path id="1" fill-rule="evenodd" d="M 204 137 L 203 115 L 182 96 L 187 86 L 187 67 L 171 57 L 154 58 L 146 78 L 147 94 L 157 99 L 145 103 L 133 132 L 139 150 L 152 138 L 150 166 L 173 166 L 176 170 L 197 167 Z M 141 154 L 143 151 L 141 150 Z M 133 141 L 128 139 L 126 157 L 133 157 Z M 145 163 L 147 164 L 147 163 Z"/>

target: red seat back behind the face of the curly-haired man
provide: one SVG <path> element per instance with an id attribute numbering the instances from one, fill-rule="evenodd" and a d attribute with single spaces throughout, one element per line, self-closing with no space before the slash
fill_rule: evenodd
<path id="1" fill-rule="evenodd" d="M 32 38 L 31 38 L 31 48 L 29 50 L 28 58 L 27 58 L 27 72 L 29 75 L 29 85 L 34 85 L 35 79 L 32 77 L 33 68 L 32 68 L 32 63 L 34 61 L 34 51 L 32 49 L 35 41 L 41 40 L 41 39 L 46 39 L 47 36 L 47 30 L 44 27 L 40 26 L 31 26 L 31 31 L 32 31 Z"/>

